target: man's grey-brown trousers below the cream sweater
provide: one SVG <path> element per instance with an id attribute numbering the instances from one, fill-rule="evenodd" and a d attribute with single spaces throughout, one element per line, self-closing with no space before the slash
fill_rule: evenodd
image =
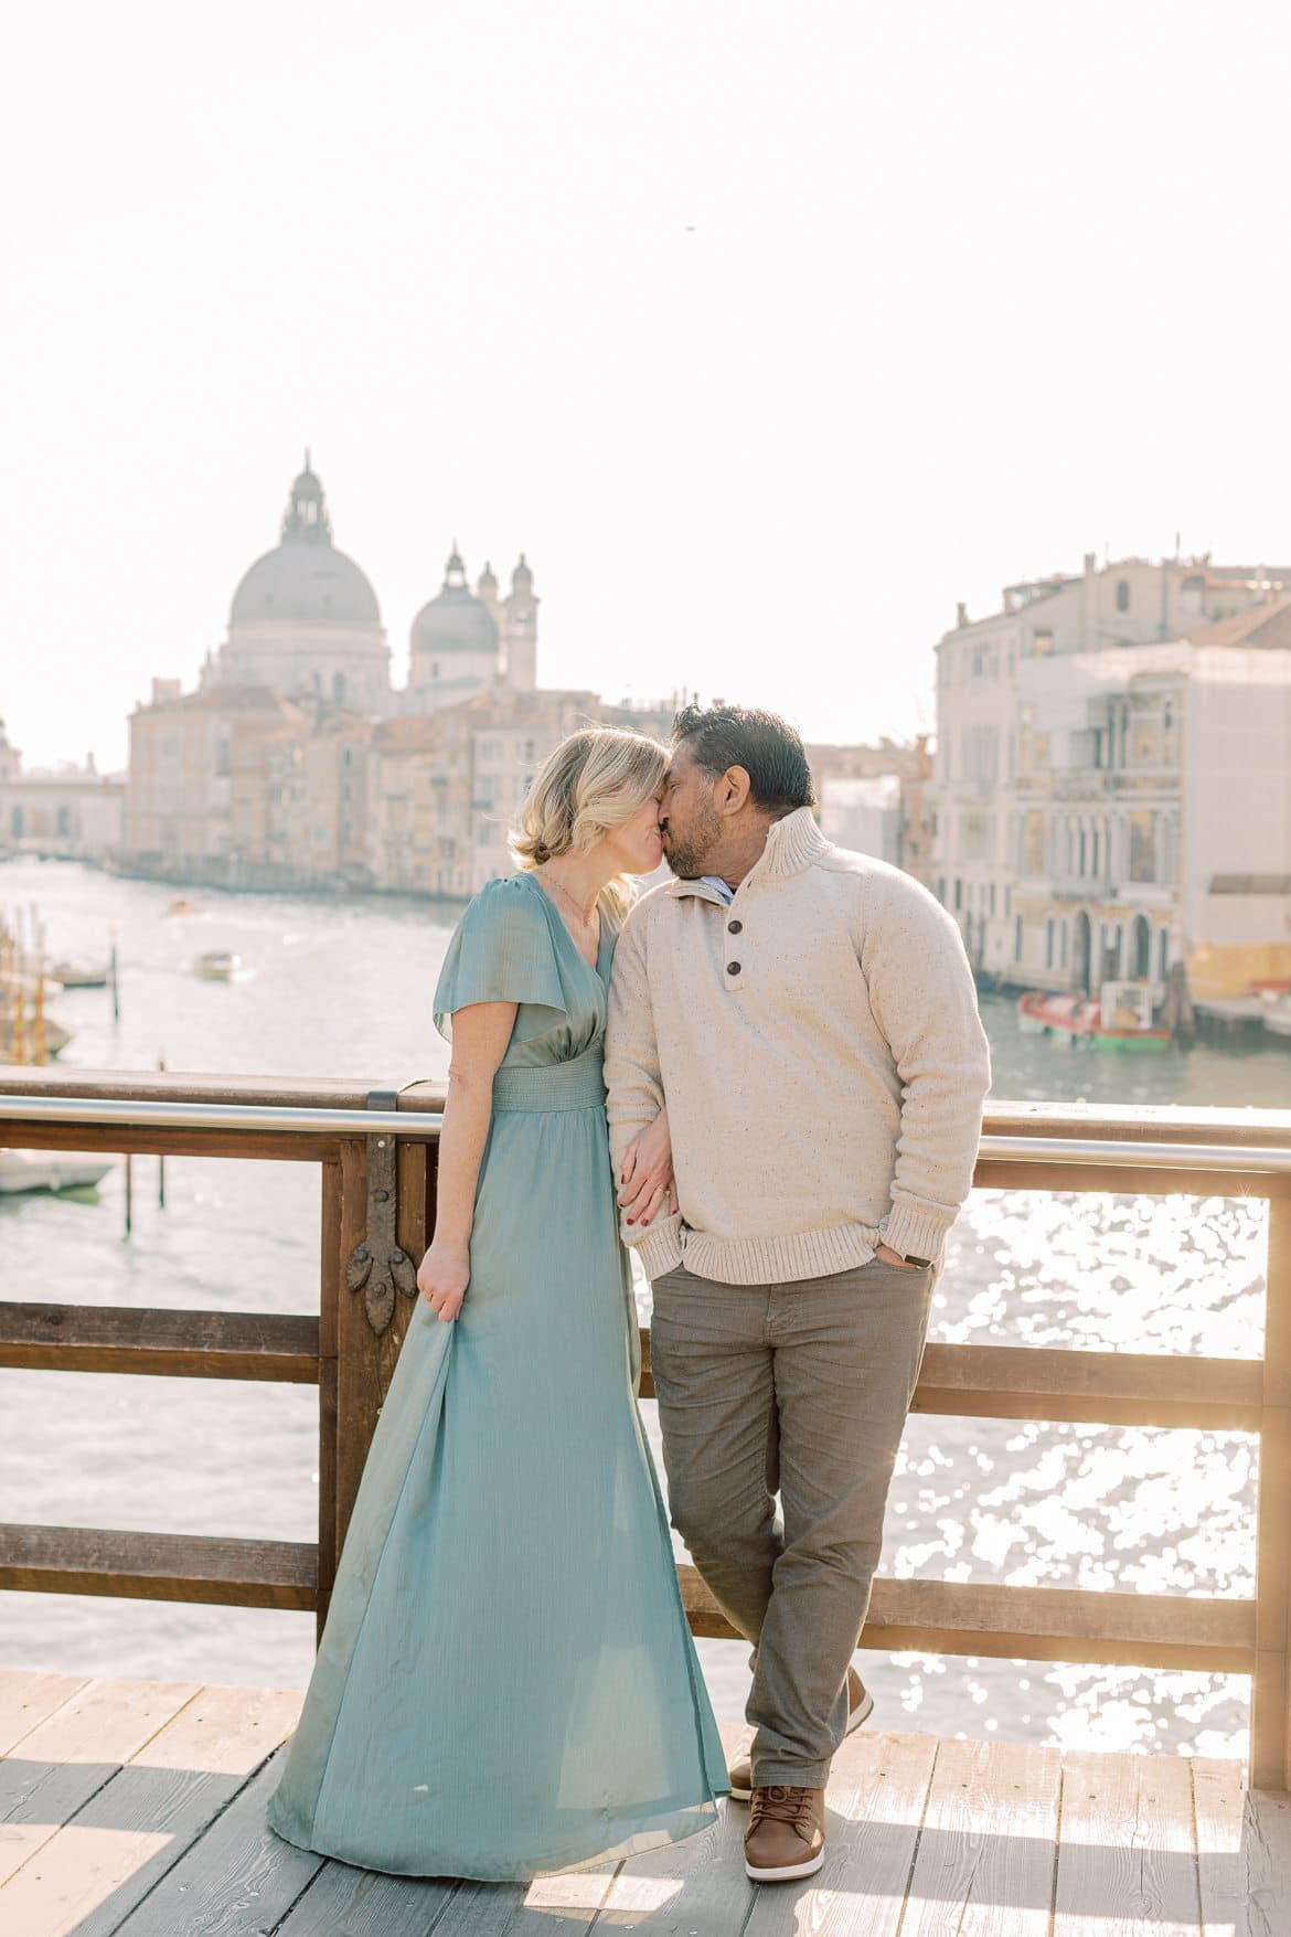
<path id="1" fill-rule="evenodd" d="M 931 1290 L 931 1267 L 877 1257 L 792 1284 L 654 1280 L 672 1522 L 757 1648 L 759 1788 L 825 1788 L 842 1741 Z"/>

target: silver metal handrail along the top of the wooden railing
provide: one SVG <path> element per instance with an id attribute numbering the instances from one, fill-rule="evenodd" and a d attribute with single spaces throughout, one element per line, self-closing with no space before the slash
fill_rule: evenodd
<path id="1" fill-rule="evenodd" d="M 242 1102 L 116 1102 L 101 1096 L 4 1096 L 0 1123 L 83 1123 L 101 1129 L 298 1131 L 312 1137 L 437 1137 L 428 1110 L 327 1110 Z M 985 1162 L 1092 1164 L 1121 1170 L 1291 1172 L 1291 1149 L 1227 1143 L 1132 1143 L 1119 1137 L 981 1139 Z"/>

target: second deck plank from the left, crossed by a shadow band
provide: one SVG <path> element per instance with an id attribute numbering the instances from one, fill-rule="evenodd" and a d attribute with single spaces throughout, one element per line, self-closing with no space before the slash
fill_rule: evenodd
<path id="1" fill-rule="evenodd" d="M 195 1681 L 89 1681 L 33 1728 L 0 1763 L 0 1883 L 195 1693 Z"/>

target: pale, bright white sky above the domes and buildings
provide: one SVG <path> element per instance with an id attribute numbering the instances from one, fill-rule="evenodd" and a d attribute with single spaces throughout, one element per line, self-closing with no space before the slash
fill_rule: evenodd
<path id="1" fill-rule="evenodd" d="M 0 715 L 126 752 L 302 449 L 406 633 L 811 738 L 1080 556 L 1291 558 L 1283 0 L 27 0 L 0 70 Z"/>

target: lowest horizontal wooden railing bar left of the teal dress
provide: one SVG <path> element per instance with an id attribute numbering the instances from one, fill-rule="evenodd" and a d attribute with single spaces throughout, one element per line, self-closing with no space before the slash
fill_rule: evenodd
<path id="1" fill-rule="evenodd" d="M 0 1588 L 312 1610 L 315 1548 L 99 1526 L 0 1526 Z"/>

